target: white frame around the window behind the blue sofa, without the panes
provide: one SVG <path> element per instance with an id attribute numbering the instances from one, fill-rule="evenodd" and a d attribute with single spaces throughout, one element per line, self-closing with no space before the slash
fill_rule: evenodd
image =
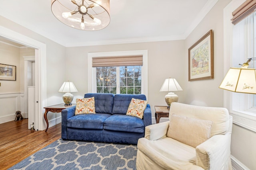
<path id="1" fill-rule="evenodd" d="M 129 55 L 142 55 L 143 65 L 141 67 L 141 93 L 145 94 L 148 98 L 148 50 L 136 51 L 113 51 L 113 52 L 100 52 L 88 53 L 88 92 L 96 93 L 96 67 L 92 67 L 92 57 L 111 57 L 111 56 L 129 56 Z M 119 85 L 118 85 L 119 86 Z"/>

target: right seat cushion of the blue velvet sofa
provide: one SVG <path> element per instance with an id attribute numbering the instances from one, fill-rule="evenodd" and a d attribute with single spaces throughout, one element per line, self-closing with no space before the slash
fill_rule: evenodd
<path id="1" fill-rule="evenodd" d="M 104 129 L 109 131 L 144 133 L 144 123 L 138 117 L 114 114 L 104 121 Z"/>

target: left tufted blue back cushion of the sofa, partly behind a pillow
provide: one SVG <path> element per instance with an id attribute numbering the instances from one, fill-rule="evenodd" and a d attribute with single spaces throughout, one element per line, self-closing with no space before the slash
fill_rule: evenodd
<path id="1" fill-rule="evenodd" d="M 95 100 L 96 113 L 112 113 L 114 104 L 114 94 L 110 93 L 87 93 L 84 98 L 92 98 Z"/>

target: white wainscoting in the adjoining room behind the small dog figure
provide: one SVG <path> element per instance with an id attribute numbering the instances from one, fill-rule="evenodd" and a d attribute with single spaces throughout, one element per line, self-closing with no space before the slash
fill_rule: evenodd
<path id="1" fill-rule="evenodd" d="M 22 106 L 23 93 L 5 93 L 0 94 L 0 123 L 14 121 L 15 112 L 20 110 L 24 115 Z"/>

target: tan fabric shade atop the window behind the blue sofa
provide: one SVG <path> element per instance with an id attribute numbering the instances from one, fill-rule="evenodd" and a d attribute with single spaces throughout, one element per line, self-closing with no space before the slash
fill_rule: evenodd
<path id="1" fill-rule="evenodd" d="M 92 67 L 142 66 L 142 55 L 92 57 Z"/>

